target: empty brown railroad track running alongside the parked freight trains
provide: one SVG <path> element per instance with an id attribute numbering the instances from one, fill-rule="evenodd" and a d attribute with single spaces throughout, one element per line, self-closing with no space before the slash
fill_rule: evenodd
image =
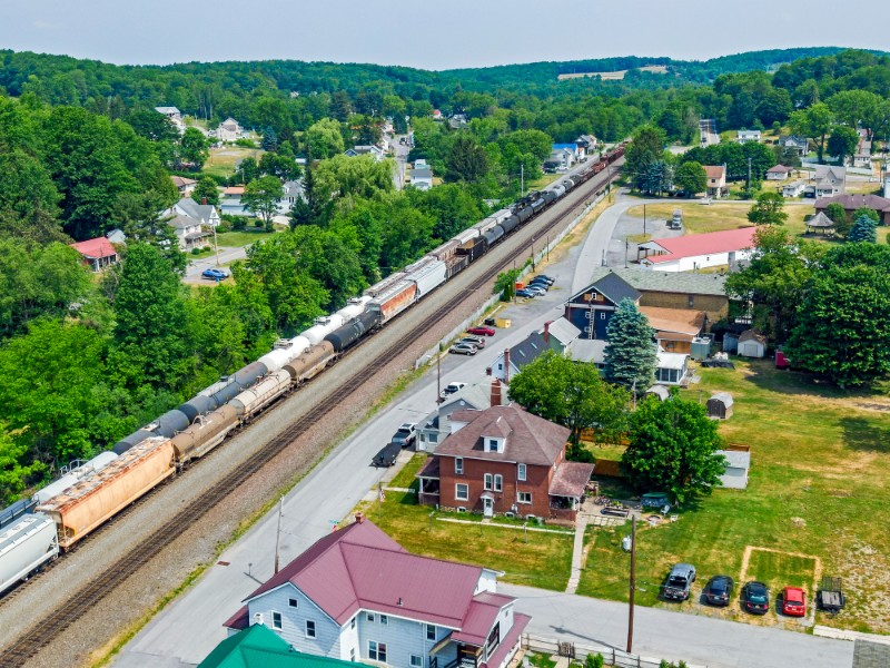
<path id="1" fill-rule="evenodd" d="M 614 179 L 616 177 L 617 175 L 612 178 Z M 584 202 L 584 198 L 596 191 L 597 184 L 604 187 L 607 180 L 609 177 L 602 173 L 592 177 L 591 180 L 582 186 L 584 194 L 582 195 L 582 191 L 578 190 L 577 194 L 581 196 L 576 197 L 574 205 L 567 207 L 566 210 L 558 216 L 554 216 L 550 223 L 538 230 L 535 238 L 540 238 L 542 233 L 545 234 L 550 232 L 573 215 L 578 208 L 578 205 Z M 589 186 L 589 188 L 584 188 L 584 186 Z M 532 224 L 534 224 L 534 222 Z M 511 262 L 514 258 L 524 258 L 528 249 L 533 247 L 533 244 L 534 239 L 522 244 L 520 248 L 505 259 L 505 262 Z M 459 306 L 467 298 L 468 294 L 484 287 L 490 281 L 497 276 L 501 266 L 503 265 L 495 265 L 483 271 L 473 279 L 468 287 L 458 292 L 433 312 L 429 316 L 431 322 L 442 320 Z M 303 418 L 271 439 L 265 448 L 257 451 L 231 473 L 220 479 L 205 495 L 202 503 L 198 508 L 191 507 L 170 518 L 155 532 L 151 540 L 144 541 L 136 546 L 129 553 L 108 567 L 93 580 L 81 587 L 66 603 L 55 608 L 46 617 L 31 625 L 30 632 L 20 636 L 14 642 L 0 652 L 0 666 L 21 666 L 34 657 L 42 648 L 61 636 L 66 629 L 96 607 L 119 584 L 138 572 L 144 563 L 151 560 L 151 558 L 158 554 L 164 548 L 170 546 L 188 531 L 195 522 L 209 512 L 211 508 L 235 492 L 246 480 L 275 459 L 276 455 L 299 438 L 313 423 L 340 405 L 355 387 L 370 380 L 377 372 L 393 362 L 413 340 L 414 336 L 411 333 L 406 333 L 392 343 L 387 348 L 383 350 L 370 364 L 356 376 L 353 376 L 350 382 L 340 385 L 326 399 L 323 399 L 310 409 Z"/>

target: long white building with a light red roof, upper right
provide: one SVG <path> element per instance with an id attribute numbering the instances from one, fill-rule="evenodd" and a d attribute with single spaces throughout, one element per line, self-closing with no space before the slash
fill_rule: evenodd
<path id="1" fill-rule="evenodd" d="M 660 272 L 694 272 L 706 267 L 732 267 L 751 257 L 756 227 L 652 239 L 640 245 L 645 256 L 640 265 Z"/>

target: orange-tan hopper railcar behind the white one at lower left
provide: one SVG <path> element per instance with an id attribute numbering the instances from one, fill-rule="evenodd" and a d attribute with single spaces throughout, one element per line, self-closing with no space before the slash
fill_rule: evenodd
<path id="1" fill-rule="evenodd" d="M 68 550 L 175 472 L 170 440 L 146 439 L 98 473 L 38 505 L 37 512 L 56 521 L 59 547 Z"/>

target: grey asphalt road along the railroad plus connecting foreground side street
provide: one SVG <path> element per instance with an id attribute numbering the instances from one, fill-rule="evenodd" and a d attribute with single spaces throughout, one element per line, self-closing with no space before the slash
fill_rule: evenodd
<path id="1" fill-rule="evenodd" d="M 515 345 L 541 328 L 545 321 L 561 315 L 562 303 L 584 287 L 590 274 L 602 262 L 604 249 L 609 262 L 610 257 L 615 261 L 615 247 L 619 247 L 623 264 L 623 237 L 612 237 L 622 214 L 642 202 L 617 196 L 616 206 L 601 215 L 584 244 L 568 249 L 558 262 L 540 266 L 540 271 L 556 278 L 554 288 L 544 297 L 507 305 L 498 315 L 511 318 L 513 326 L 498 330 L 496 336 L 487 338 L 486 347 L 476 356 L 445 355 L 442 386 L 453 381 L 485 381 L 486 366 L 504 347 Z M 635 223 L 621 224 L 633 226 Z M 392 471 L 372 468 L 370 459 L 400 423 L 419 422 L 432 412 L 437 393 L 433 367 L 287 493 L 281 519 L 283 563 L 332 531 L 334 523 L 374 492 L 387 472 L 392 474 Z M 196 665 L 206 657 L 226 636 L 222 622 L 240 607 L 245 597 L 271 576 L 276 524 L 277 509 L 226 550 L 219 562 L 188 592 L 150 621 L 121 650 L 113 665 L 174 668 Z M 520 611 L 532 615 L 530 631 L 533 633 L 624 647 L 627 607 L 623 603 L 506 584 L 502 590 L 518 598 Z M 803 633 L 654 608 L 637 607 L 636 620 L 634 650 L 644 656 L 684 659 L 711 668 L 753 665 L 844 668 L 852 660 L 851 642 Z"/>

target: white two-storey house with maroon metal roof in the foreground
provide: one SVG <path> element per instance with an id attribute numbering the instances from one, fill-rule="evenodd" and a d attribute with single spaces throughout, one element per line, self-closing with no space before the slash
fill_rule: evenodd
<path id="1" fill-rule="evenodd" d="M 265 625 L 297 651 L 397 668 L 504 668 L 530 618 L 498 573 L 406 552 L 363 517 L 254 591 L 230 632 Z"/>

